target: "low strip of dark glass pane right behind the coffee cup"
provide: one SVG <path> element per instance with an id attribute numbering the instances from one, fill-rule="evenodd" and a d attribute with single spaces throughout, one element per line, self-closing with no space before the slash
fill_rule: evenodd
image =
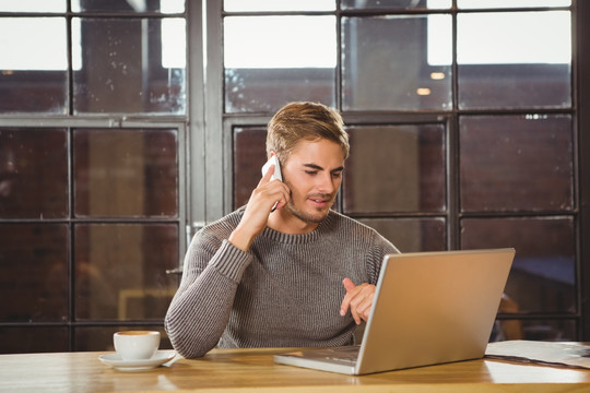
<path id="1" fill-rule="evenodd" d="M 99 327 L 75 327 L 75 348 L 78 352 L 115 350 L 113 334 L 126 330 L 151 330 L 160 332 L 160 349 L 173 349 L 170 340 L 162 325 L 119 325 Z"/>

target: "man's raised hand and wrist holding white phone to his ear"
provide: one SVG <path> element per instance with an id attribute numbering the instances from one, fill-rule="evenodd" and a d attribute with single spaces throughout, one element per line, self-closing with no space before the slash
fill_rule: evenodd
<path id="1" fill-rule="evenodd" d="M 262 167 L 262 179 L 252 191 L 239 225 L 229 236 L 229 241 L 237 248 L 248 251 L 253 239 L 264 230 L 269 215 L 288 202 L 290 190 L 282 181 L 282 174 L 276 155 L 272 155 Z M 274 179 L 280 181 L 273 181 Z"/>

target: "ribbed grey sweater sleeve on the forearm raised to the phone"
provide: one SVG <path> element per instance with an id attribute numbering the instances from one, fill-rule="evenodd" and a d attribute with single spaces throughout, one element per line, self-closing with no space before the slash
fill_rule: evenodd
<path id="1" fill-rule="evenodd" d="M 185 258 L 182 279 L 164 326 L 174 348 L 186 358 L 205 355 L 222 336 L 234 303 L 237 285 L 251 255 L 198 234 Z"/>

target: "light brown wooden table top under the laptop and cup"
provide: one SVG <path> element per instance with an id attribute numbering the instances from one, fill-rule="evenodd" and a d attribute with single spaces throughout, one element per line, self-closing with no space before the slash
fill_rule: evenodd
<path id="1" fill-rule="evenodd" d="M 0 355 L 0 392 L 590 392 L 590 370 L 480 359 L 362 377 L 274 365 L 285 349 L 215 349 L 122 372 L 102 353 Z"/>

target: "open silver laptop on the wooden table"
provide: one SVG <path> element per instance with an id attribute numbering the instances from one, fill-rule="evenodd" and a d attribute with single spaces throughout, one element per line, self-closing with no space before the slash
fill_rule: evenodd
<path id="1" fill-rule="evenodd" d="M 514 257 L 515 249 L 386 255 L 361 345 L 274 361 L 359 376 L 482 358 Z"/>

